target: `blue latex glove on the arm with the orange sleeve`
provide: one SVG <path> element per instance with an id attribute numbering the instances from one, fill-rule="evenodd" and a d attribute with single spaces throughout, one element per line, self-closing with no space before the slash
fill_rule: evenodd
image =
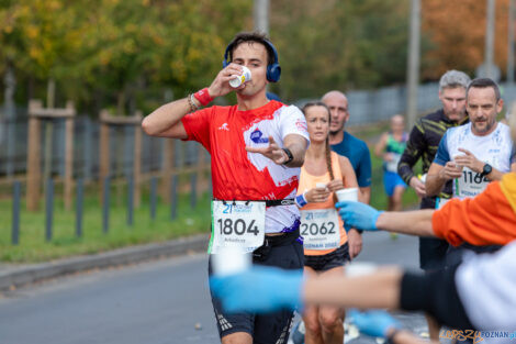
<path id="1" fill-rule="evenodd" d="M 362 231 L 378 231 L 377 220 L 383 211 L 354 201 L 340 201 L 335 207 L 339 209 L 338 213 L 344 221 L 346 231 L 351 228 Z"/>

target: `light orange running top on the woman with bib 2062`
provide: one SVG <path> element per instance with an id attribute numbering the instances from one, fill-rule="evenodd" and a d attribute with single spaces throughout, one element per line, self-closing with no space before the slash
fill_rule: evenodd
<path id="1" fill-rule="evenodd" d="M 332 169 L 334 171 L 334 175 L 336 176 L 335 178 L 338 178 L 337 176 L 343 176 L 343 173 L 340 171 L 340 165 L 338 163 L 338 154 L 335 152 L 330 152 L 332 154 Z M 301 167 L 301 175 L 300 175 L 300 186 L 298 188 L 298 195 L 303 193 L 306 190 L 315 188 L 315 185 L 317 182 L 324 182 L 328 184 L 329 180 L 329 173 L 324 174 L 323 176 L 313 176 L 306 171 L 306 169 Z M 311 210 L 311 209 L 335 209 L 335 202 L 334 202 L 334 192 L 329 193 L 328 199 L 326 202 L 323 203 L 307 203 L 301 210 Z M 343 246 L 347 241 L 348 237 L 346 235 L 346 231 L 344 230 L 344 222 L 340 217 L 338 217 L 338 224 L 339 224 L 339 233 L 340 233 L 340 244 L 339 246 Z M 329 248 L 329 249 L 305 249 L 304 254 L 306 256 L 322 256 L 325 254 L 328 254 L 330 252 L 334 252 L 337 248 Z"/>

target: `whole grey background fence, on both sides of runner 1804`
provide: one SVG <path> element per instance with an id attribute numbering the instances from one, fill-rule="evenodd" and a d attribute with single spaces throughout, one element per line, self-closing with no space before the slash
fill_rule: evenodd
<path id="1" fill-rule="evenodd" d="M 505 93 L 516 95 L 515 87 L 502 84 Z M 406 88 L 404 86 L 385 87 L 369 91 L 349 91 L 346 93 L 351 113 L 349 125 L 363 125 L 379 121 L 386 121 L 393 114 L 405 113 Z M 438 84 L 420 85 L 418 89 L 418 112 L 425 113 L 440 107 L 438 99 Z M 509 99 L 506 99 L 509 100 Z M 300 100 L 296 104 L 303 104 Z M 506 102 L 508 103 L 508 102 Z M 3 111 L 3 108 L 0 108 Z M 52 174 L 65 175 L 65 121 L 45 120 L 54 125 L 52 137 L 45 137 L 42 131 L 41 145 L 52 140 Z M 134 158 L 134 126 L 110 126 L 110 176 L 113 178 L 130 177 L 133 173 Z M 99 178 L 99 142 L 100 122 L 87 114 L 78 115 L 74 125 L 74 179 L 82 178 L 85 181 Z M 164 138 L 143 135 L 142 141 L 142 174 L 148 175 L 158 171 L 165 164 Z M 199 152 L 201 146 L 195 142 L 180 142 L 175 144 L 173 167 L 183 168 L 197 165 L 199 159 L 209 162 L 210 157 Z M 204 149 L 202 149 L 204 151 Z M 14 118 L 0 116 L 0 178 L 10 177 L 26 171 L 27 154 L 27 111 L 18 108 Z M 42 162 L 43 164 L 43 162 Z"/>

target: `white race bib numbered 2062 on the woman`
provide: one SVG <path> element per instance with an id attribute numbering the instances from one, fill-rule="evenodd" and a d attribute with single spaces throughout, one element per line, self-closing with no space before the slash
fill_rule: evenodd
<path id="1" fill-rule="evenodd" d="M 335 209 L 301 211 L 301 235 L 306 249 L 337 248 L 340 244 L 338 214 Z"/>

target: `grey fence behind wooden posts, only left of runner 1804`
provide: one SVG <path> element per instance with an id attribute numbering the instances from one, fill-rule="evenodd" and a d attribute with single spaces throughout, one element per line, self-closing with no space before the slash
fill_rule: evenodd
<path id="1" fill-rule="evenodd" d="M 52 174 L 65 176 L 65 120 L 44 120 L 52 122 L 53 135 L 45 137 L 42 131 L 41 147 L 46 140 L 52 141 Z M 88 115 L 79 115 L 74 120 L 74 179 L 86 181 L 99 178 L 99 143 L 100 122 Z M 130 177 L 133 174 L 134 131 L 132 125 L 110 126 L 110 176 L 114 178 Z M 139 127 L 137 129 L 139 130 Z M 26 109 L 18 109 L 16 118 L 0 122 L 0 176 L 12 177 L 26 171 L 27 158 L 27 116 Z M 148 174 L 162 168 L 164 145 L 166 140 L 143 135 L 142 173 Z M 200 145 L 195 142 L 175 144 L 173 166 L 181 168 L 197 165 L 200 156 L 209 160 L 207 154 L 199 153 Z M 42 164 L 44 162 L 42 160 Z"/>

